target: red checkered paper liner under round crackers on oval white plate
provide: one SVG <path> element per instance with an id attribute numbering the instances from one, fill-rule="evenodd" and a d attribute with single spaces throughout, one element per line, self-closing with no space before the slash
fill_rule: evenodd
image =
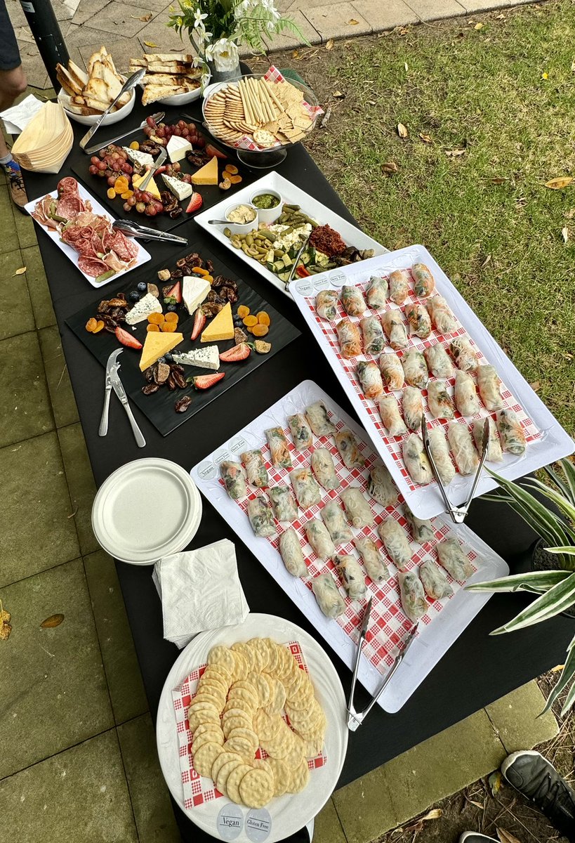
<path id="1" fill-rule="evenodd" d="M 304 668 L 306 673 L 309 673 L 299 642 L 290 641 L 286 644 L 286 647 L 289 648 L 296 662 Z M 207 776 L 200 776 L 196 772 L 193 755 L 191 754 L 192 733 L 190 723 L 188 722 L 188 707 L 190 706 L 191 700 L 196 696 L 197 683 L 206 668 L 207 663 L 192 670 L 185 677 L 184 681 L 172 691 L 175 722 L 176 728 L 178 729 L 178 743 L 180 744 L 180 771 L 182 787 L 184 788 L 185 808 L 197 808 L 198 805 L 203 805 L 205 802 L 212 802 L 213 799 L 223 796 L 211 779 L 207 778 Z M 285 716 L 284 720 L 289 722 Z M 260 747 L 255 757 L 267 758 L 266 750 Z M 308 760 L 309 770 L 312 772 L 318 770 L 325 765 L 326 761 L 327 755 L 325 754 L 325 750 L 322 749 L 319 755 Z"/>

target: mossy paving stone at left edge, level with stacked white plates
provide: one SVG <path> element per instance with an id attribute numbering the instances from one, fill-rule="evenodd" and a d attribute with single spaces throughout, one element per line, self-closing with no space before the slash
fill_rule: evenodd
<path id="1" fill-rule="evenodd" d="M 0 586 L 80 555 L 56 432 L 0 450 Z M 51 614 L 50 612 L 48 614 Z"/>

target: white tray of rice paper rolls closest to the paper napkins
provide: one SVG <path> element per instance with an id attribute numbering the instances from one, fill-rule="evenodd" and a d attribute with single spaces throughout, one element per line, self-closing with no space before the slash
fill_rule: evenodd
<path id="1" fill-rule="evenodd" d="M 323 402 L 326 413 L 317 402 Z M 303 421 L 306 419 L 309 420 L 307 434 Z M 298 420 L 302 422 L 301 437 L 296 427 Z M 310 427 L 315 428 L 311 433 Z M 326 435 L 318 435 L 316 431 L 320 429 Z M 315 452 L 320 453 L 314 457 Z M 282 464 L 274 464 L 272 459 Z M 320 471 L 320 462 L 325 459 L 333 464 L 332 482 Z M 249 481 L 259 486 L 246 481 L 242 463 L 249 468 Z M 310 468 L 312 465 L 314 470 Z M 235 480 L 233 471 L 237 472 Z M 373 478 L 382 473 L 384 491 L 377 483 L 373 485 Z M 355 658 L 363 609 L 373 595 L 368 640 L 359 668 L 359 679 L 371 693 L 377 690 L 397 648 L 413 628 L 414 621 L 406 615 L 407 611 L 411 617 L 415 616 L 410 602 L 413 594 L 416 598 L 419 595 L 420 604 L 422 599 L 426 601 L 419 606 L 421 620 L 416 641 L 379 700 L 385 711 L 398 711 L 404 705 L 486 603 L 488 594 L 466 592 L 464 583 L 508 573 L 508 566 L 500 556 L 465 525 L 454 525 L 447 516 L 433 518 L 432 524 L 417 524 L 413 520 L 408 524 L 406 516 L 409 518 L 410 513 L 404 499 L 366 432 L 309 380 L 209 454 L 191 470 L 191 476 L 202 494 L 349 667 Z M 330 489 L 320 486 L 320 482 Z M 229 496 L 226 483 L 237 499 Z M 352 496 L 349 496 L 350 489 L 354 489 Z M 274 517 L 271 502 L 282 521 Z M 307 522 L 310 524 L 306 531 Z M 327 536 L 323 528 L 329 528 Z M 398 535 L 394 538 L 393 534 Z M 314 541 L 315 550 L 308 537 Z M 326 541 L 326 547 L 320 546 L 321 540 Z M 398 554 L 395 540 L 399 541 L 400 550 L 405 550 L 405 558 Z M 438 545 L 446 540 L 454 541 L 438 551 Z M 372 555 L 378 556 L 376 563 L 372 561 L 369 565 L 367 554 L 364 556 L 359 551 L 365 545 L 371 548 Z M 449 546 L 459 552 L 465 567 L 460 581 L 446 572 L 443 563 L 438 564 Z M 319 553 L 324 557 L 320 558 Z M 282 556 L 288 560 L 294 575 L 287 571 Z M 419 568 L 423 562 L 433 576 L 441 579 L 449 596 L 421 597 Z M 374 579 L 366 576 L 368 569 Z M 303 576 L 298 576 L 300 573 Z M 320 583 L 314 583 L 316 577 L 321 577 Z M 403 588 L 408 588 L 411 580 L 417 581 L 415 592 L 408 593 L 403 603 L 398 580 Z M 318 588 L 320 584 L 329 588 L 322 590 Z M 332 615 L 341 614 L 337 617 L 324 614 L 313 585 L 324 609 L 330 611 L 335 607 Z M 329 593 L 327 598 L 325 592 Z"/>

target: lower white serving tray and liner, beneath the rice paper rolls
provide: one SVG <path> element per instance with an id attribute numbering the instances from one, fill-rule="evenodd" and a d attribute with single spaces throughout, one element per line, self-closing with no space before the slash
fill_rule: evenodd
<path id="1" fill-rule="evenodd" d="M 271 477 L 274 478 L 279 475 L 282 482 L 289 482 L 286 470 L 277 470 L 271 467 L 269 449 L 266 447 L 265 431 L 269 427 L 280 426 L 284 429 L 287 428 L 287 416 L 295 412 L 304 411 L 306 406 L 319 399 L 325 402 L 325 405 L 334 417 L 334 421 L 339 420 L 341 422 L 340 427 L 348 427 L 355 433 L 362 443 L 362 453 L 367 460 L 367 466 L 361 471 L 353 470 L 350 472 L 345 469 L 331 438 L 314 437 L 314 447 L 330 448 L 334 462 L 336 463 L 338 476 L 344 486 L 352 481 L 354 485 L 360 486 L 365 491 L 367 487 L 368 467 L 374 463 L 379 463 L 377 454 L 373 450 L 373 445 L 369 441 L 365 431 L 352 420 L 351 416 L 348 416 L 323 389 L 320 389 L 317 384 L 314 384 L 310 380 L 299 384 L 299 386 L 271 406 L 269 410 L 266 410 L 261 416 L 251 421 L 244 430 L 239 431 L 233 437 L 229 438 L 220 448 L 217 448 L 206 459 L 202 460 L 200 464 L 196 465 L 191 470 L 191 476 L 200 491 L 202 491 L 202 494 L 207 497 L 207 500 L 212 503 L 212 506 L 216 508 L 222 518 L 232 526 L 239 535 L 239 538 L 250 548 L 255 558 L 261 561 L 266 571 L 282 586 L 283 590 L 293 599 L 293 602 L 304 612 L 310 623 L 324 636 L 325 641 L 330 644 L 330 647 L 336 651 L 349 668 L 352 668 L 356 656 L 356 642 L 363 617 L 363 606 L 369 595 L 373 595 L 373 609 L 371 623 L 368 629 L 368 642 L 363 647 L 363 658 L 358 674 L 362 684 L 373 694 L 379 688 L 384 674 L 387 672 L 397 652 L 395 644 L 404 641 L 407 633 L 413 626 L 411 621 L 406 619 L 406 616 L 403 615 L 400 609 L 395 566 L 389 562 L 391 576 L 387 583 L 380 583 L 378 586 L 372 583 L 369 578 L 367 579 L 368 593 L 366 594 L 366 598 L 361 601 L 352 602 L 347 599 L 340 585 L 340 592 L 346 600 L 346 613 L 345 615 L 341 615 L 341 618 L 338 620 L 329 620 L 321 612 L 314 598 L 314 594 L 304 583 L 304 580 L 292 577 L 287 573 L 282 562 L 282 557 L 277 550 L 277 539 L 268 540 L 255 536 L 244 509 L 239 506 L 238 502 L 228 497 L 219 479 L 218 464 L 223 459 L 239 460 L 239 454 L 245 448 L 263 448 L 267 468 Z M 287 440 L 291 443 L 289 433 L 287 433 Z M 293 444 L 291 448 L 294 465 L 305 464 L 309 466 L 309 453 L 304 452 L 303 459 L 296 463 L 298 452 L 293 448 Z M 250 488 L 251 497 L 253 497 L 252 493 L 254 491 Z M 330 495 L 330 493 L 324 491 L 322 504 L 329 500 L 330 497 L 334 497 L 334 494 Z M 378 516 L 381 518 L 383 514 L 395 515 L 395 518 L 402 516 L 402 507 L 388 507 L 384 509 L 384 507 L 380 507 L 379 504 L 371 500 L 370 503 L 376 519 Z M 319 507 L 311 507 L 306 513 L 302 513 L 300 510 L 300 521 L 298 524 L 302 524 L 312 515 L 317 515 L 318 511 Z M 476 573 L 470 577 L 468 583 L 478 583 L 486 579 L 502 577 L 508 573 L 507 563 L 502 560 L 501 556 L 497 556 L 484 541 L 465 527 L 465 525 L 452 524 L 447 516 L 442 515 L 434 519 L 433 526 L 436 528 L 437 535 L 441 534 L 441 537 L 447 534 L 456 535 L 459 540 L 464 541 L 470 548 L 470 561 L 476 567 Z M 325 563 L 317 560 L 317 557 L 314 556 L 313 551 L 307 545 L 305 538 L 302 538 L 304 536 L 303 529 L 296 524 L 294 524 L 294 529 L 297 530 L 300 541 L 303 543 L 304 556 L 308 561 L 311 574 L 315 576 L 319 572 L 331 572 L 334 575 L 333 563 Z M 278 528 L 278 534 L 281 532 L 282 528 Z M 355 533 L 357 531 L 354 531 Z M 371 535 L 376 544 L 381 547 L 382 543 L 375 529 L 362 530 L 360 533 Z M 272 544 L 272 542 L 275 544 Z M 410 567 L 415 567 L 417 562 L 421 561 L 427 555 L 431 555 L 434 558 L 434 551 L 430 547 L 427 547 L 426 550 L 415 543 L 411 543 L 411 547 L 413 556 Z M 354 556 L 357 556 L 357 551 L 352 549 L 351 544 L 346 545 L 345 548 L 338 548 L 338 550 L 339 552 L 351 552 Z M 339 583 L 339 578 L 336 574 L 335 577 L 336 583 Z M 406 658 L 401 663 L 400 668 L 398 668 L 390 685 L 388 685 L 384 694 L 379 698 L 379 705 L 385 711 L 399 711 L 400 707 L 405 704 L 430 670 L 438 663 L 443 654 L 447 652 L 449 647 L 459 637 L 461 631 L 473 620 L 490 597 L 486 593 L 467 592 L 458 583 L 452 583 L 452 585 L 454 587 L 454 596 L 451 599 L 436 600 L 429 604 L 427 615 L 425 615 L 419 624 L 419 632 L 416 640 L 412 643 Z M 440 618 L 438 615 L 440 615 Z"/>

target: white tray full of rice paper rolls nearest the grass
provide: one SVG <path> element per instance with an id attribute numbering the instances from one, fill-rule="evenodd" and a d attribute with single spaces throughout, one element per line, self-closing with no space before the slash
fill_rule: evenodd
<path id="1" fill-rule="evenodd" d="M 421 454 L 422 411 L 453 505 L 470 493 L 486 416 L 486 467 L 508 480 L 572 453 L 567 432 L 423 246 L 293 281 L 290 291 L 419 518 L 445 508 Z M 476 497 L 495 486 L 484 471 Z"/>

